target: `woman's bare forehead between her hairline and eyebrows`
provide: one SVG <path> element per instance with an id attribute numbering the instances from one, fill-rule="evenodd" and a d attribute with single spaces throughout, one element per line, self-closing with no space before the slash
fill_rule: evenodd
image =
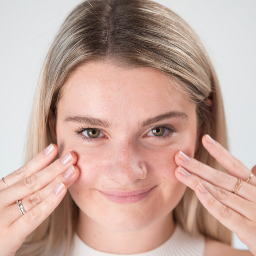
<path id="1" fill-rule="evenodd" d="M 172 110 L 188 113 L 192 107 L 193 103 L 157 69 L 122 69 L 106 63 L 90 63 L 76 69 L 58 102 L 58 112 L 106 114 L 111 118 Z"/>

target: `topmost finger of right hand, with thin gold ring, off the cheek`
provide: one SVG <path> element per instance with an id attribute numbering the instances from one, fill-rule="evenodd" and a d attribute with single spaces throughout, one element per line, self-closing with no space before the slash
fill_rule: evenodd
<path id="1" fill-rule="evenodd" d="M 231 155 L 229 151 L 213 140 L 209 135 L 203 136 L 202 143 L 210 155 L 220 163 L 227 173 L 237 178 L 241 178 L 243 181 L 246 181 L 252 174 L 252 172 L 240 160 Z M 256 186 L 255 175 L 253 175 L 248 183 Z"/>

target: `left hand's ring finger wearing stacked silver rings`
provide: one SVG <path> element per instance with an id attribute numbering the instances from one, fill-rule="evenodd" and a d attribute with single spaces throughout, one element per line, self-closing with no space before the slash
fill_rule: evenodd
<path id="1" fill-rule="evenodd" d="M 33 207 L 41 203 L 50 194 L 50 192 L 53 191 L 53 189 L 56 188 L 58 184 L 60 184 L 60 182 L 64 182 L 67 185 L 67 188 L 69 188 L 77 180 L 78 177 L 78 167 L 71 165 L 65 173 L 60 174 L 54 181 L 52 181 L 45 188 L 21 200 L 24 210 L 28 212 Z M 11 226 L 12 223 L 14 223 L 20 217 L 20 212 L 17 204 L 15 203 L 5 208 L 5 210 L 1 212 L 1 217 L 7 220 L 5 225 Z"/>

